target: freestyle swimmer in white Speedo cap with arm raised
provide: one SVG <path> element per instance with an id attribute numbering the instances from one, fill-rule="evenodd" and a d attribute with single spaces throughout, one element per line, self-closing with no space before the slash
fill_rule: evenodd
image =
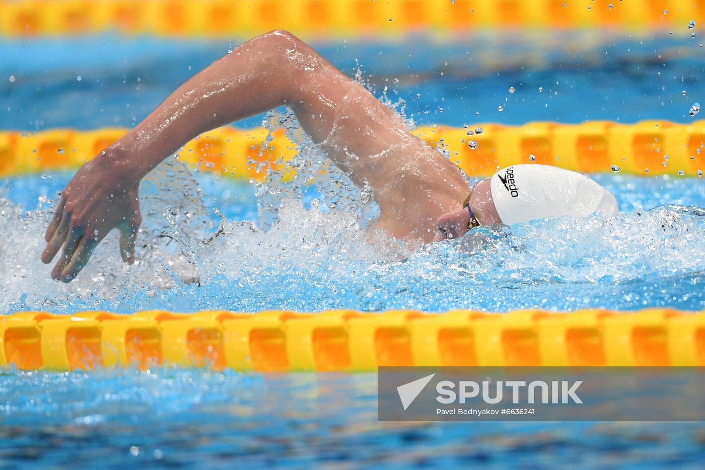
<path id="1" fill-rule="evenodd" d="M 70 282 L 99 242 L 120 230 L 135 260 L 140 180 L 202 132 L 288 106 L 303 130 L 357 185 L 372 187 L 375 229 L 407 242 L 458 238 L 478 225 L 615 214 L 615 198 L 552 166 L 503 168 L 472 188 L 464 173 L 403 119 L 300 39 L 282 30 L 245 42 L 178 87 L 124 137 L 83 165 L 61 194 L 42 261 Z"/>

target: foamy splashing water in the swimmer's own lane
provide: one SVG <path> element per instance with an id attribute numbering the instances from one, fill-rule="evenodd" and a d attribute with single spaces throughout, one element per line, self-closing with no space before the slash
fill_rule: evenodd
<path id="1" fill-rule="evenodd" d="M 39 261 L 51 199 L 66 175 L 35 178 L 39 188 L 31 178 L 8 183 L 0 311 L 705 307 L 702 211 L 639 209 L 705 206 L 697 178 L 597 175 L 622 214 L 479 228 L 414 250 L 372 232 L 378 209 L 369 188 L 322 157 L 293 116 L 272 113 L 265 123 L 298 142 L 287 163 L 293 180 L 272 172 L 243 191 L 168 159 L 140 187 L 145 223 L 135 265 L 122 263 L 114 233 L 68 285 Z M 32 200 L 35 209 L 22 206 Z"/>

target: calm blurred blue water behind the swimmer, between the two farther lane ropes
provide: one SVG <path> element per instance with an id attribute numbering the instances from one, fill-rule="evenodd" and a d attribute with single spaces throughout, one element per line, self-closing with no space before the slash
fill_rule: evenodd
<path id="1" fill-rule="evenodd" d="M 111 36 L 6 39 L 0 42 L 0 128 L 130 127 L 241 43 Z M 350 76 L 360 66 L 377 95 L 388 87 L 388 97 L 403 99 L 407 116 L 417 124 L 689 123 L 691 104 L 705 93 L 699 36 L 630 39 L 611 30 L 508 30 L 443 41 L 419 35 L 405 41 L 313 44 Z M 510 94 L 510 87 L 516 91 Z M 257 116 L 238 125 L 261 120 Z"/>

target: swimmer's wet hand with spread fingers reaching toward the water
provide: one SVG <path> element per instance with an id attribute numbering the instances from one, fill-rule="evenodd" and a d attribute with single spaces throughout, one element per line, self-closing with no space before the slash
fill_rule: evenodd
<path id="1" fill-rule="evenodd" d="M 140 179 L 125 175 L 110 149 L 83 165 L 61 193 L 59 208 L 49 224 L 42 261 L 51 263 L 63 253 L 51 278 L 71 282 L 90 259 L 95 247 L 114 228 L 120 230 L 123 261 L 135 261 L 135 238 L 142 223 Z"/>

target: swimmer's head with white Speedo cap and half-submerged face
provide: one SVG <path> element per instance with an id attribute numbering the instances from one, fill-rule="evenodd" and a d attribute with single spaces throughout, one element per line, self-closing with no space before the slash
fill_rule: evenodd
<path id="1" fill-rule="evenodd" d="M 537 218 L 618 213 L 615 197 L 587 176 L 555 166 L 523 164 L 503 168 L 472 188 L 468 204 L 438 220 L 443 237 L 457 238 L 473 227 L 522 223 Z"/>

